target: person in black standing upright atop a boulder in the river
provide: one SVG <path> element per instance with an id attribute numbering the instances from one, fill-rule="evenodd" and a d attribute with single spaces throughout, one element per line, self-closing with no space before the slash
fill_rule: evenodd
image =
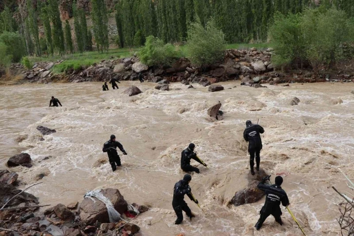
<path id="1" fill-rule="evenodd" d="M 251 121 L 246 121 L 246 129 L 243 132 L 243 138 L 248 144 L 248 152 L 250 153 L 251 174 L 254 175 L 255 155 L 256 155 L 256 170 L 259 171 L 260 150 L 262 150 L 262 140 L 260 133 L 264 133 L 264 129 L 260 125 L 253 125 Z"/>

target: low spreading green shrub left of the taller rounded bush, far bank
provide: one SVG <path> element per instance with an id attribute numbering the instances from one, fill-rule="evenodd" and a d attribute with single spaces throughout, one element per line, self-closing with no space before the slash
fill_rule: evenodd
<path id="1" fill-rule="evenodd" d="M 180 52 L 176 50 L 174 45 L 164 44 L 162 40 L 148 36 L 145 46 L 138 52 L 138 56 L 144 64 L 162 66 L 175 62 L 180 57 Z"/>

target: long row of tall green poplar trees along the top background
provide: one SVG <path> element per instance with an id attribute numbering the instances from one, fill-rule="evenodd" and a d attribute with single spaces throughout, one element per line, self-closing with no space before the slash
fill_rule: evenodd
<path id="1" fill-rule="evenodd" d="M 58 0 L 37 1 L 37 6 L 34 0 L 27 0 L 28 17 L 21 18 L 19 28 L 5 7 L 0 14 L 0 33 L 19 30 L 25 39 L 28 54 L 35 51 L 40 56 L 43 48 L 41 41 L 44 40 L 39 39 L 38 22 L 41 20 L 48 54 L 53 55 L 54 51 L 60 55 L 65 52 L 83 52 L 92 48 L 92 34 L 86 22 L 86 14 L 90 14 L 98 50 L 107 51 L 107 7 L 104 0 L 90 1 L 90 13 L 79 9 L 75 1 L 73 3 L 74 40 L 68 21 L 63 29 Z M 118 0 L 115 9 L 111 10 L 115 10 L 118 33 L 116 42 L 120 47 L 132 47 L 142 45 L 149 35 L 165 43 L 182 42 L 187 37 L 189 23 L 196 18 L 203 25 L 213 18 L 229 43 L 247 43 L 252 40 L 264 42 L 275 12 L 296 14 L 318 4 L 342 9 L 354 17 L 354 0 Z M 23 10 L 20 8 L 20 16 L 24 15 Z M 73 41 L 76 42 L 75 46 Z"/>

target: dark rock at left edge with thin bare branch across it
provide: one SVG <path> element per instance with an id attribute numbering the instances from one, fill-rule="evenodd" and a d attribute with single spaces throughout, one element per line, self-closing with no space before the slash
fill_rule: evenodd
<path id="1" fill-rule="evenodd" d="M 16 194 L 20 193 L 21 190 L 16 189 L 14 186 L 7 184 L 7 183 L 1 183 L 0 182 L 0 206 L 3 206 L 10 198 L 15 196 Z M 38 204 L 39 201 L 37 200 L 37 197 L 30 193 L 23 192 L 14 199 L 12 199 L 8 204 L 7 207 L 11 206 L 17 206 L 20 203 L 32 203 L 32 204 Z"/>

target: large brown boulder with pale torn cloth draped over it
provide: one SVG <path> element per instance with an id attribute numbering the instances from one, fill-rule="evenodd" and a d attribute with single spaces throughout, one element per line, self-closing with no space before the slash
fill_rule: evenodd
<path id="1" fill-rule="evenodd" d="M 101 190 L 101 193 L 112 202 L 119 214 L 123 214 L 127 210 L 128 203 L 124 200 L 118 189 L 104 189 Z M 85 198 L 81 202 L 79 207 L 81 221 L 85 224 L 94 224 L 96 221 L 109 223 L 106 205 L 98 199 L 95 200 L 94 202 L 91 198 Z"/>

